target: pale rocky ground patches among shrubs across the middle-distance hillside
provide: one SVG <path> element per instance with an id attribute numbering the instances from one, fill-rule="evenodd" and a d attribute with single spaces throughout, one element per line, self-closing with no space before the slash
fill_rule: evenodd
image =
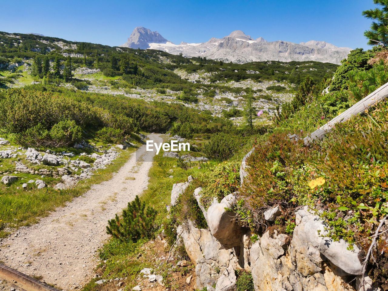
<path id="1" fill-rule="evenodd" d="M 29 76 L 31 74 L 31 60 L 23 61 L 19 64 L 10 64 L 9 70 L 12 72 L 24 72 L 24 75 Z M 168 62 L 167 58 L 164 58 L 161 60 L 161 62 Z M 52 64 L 51 64 L 52 66 Z M 199 71 L 197 73 L 187 73 L 186 71 L 182 69 L 176 69 L 174 71 L 177 73 L 182 79 L 186 79 L 192 83 L 197 83 L 199 80 L 203 84 L 210 84 L 210 78 L 212 76 L 212 73 L 207 73 L 204 71 Z M 255 73 L 253 71 L 249 71 L 250 73 Z M 236 107 L 237 109 L 242 110 L 245 104 L 244 95 L 245 92 L 241 92 L 241 94 L 235 94 L 230 92 L 220 92 L 221 90 L 216 88 L 216 95 L 214 98 L 206 98 L 202 94 L 203 92 L 198 91 L 198 103 L 184 103 L 177 99 L 177 96 L 180 95 L 182 92 L 179 91 L 171 91 L 166 90 L 165 94 L 158 94 L 156 90 L 152 89 L 142 89 L 142 88 L 136 88 L 128 90 L 126 88 L 120 87 L 120 78 L 116 80 L 116 86 L 113 85 L 115 82 L 111 80 L 106 80 L 104 76 L 102 75 L 101 71 L 96 68 L 87 68 L 87 67 L 80 67 L 76 68 L 73 71 L 74 77 L 89 81 L 91 84 L 88 85 L 85 88 L 82 88 L 81 90 L 87 90 L 88 92 L 94 92 L 94 93 L 102 93 L 102 94 L 112 94 L 112 95 L 125 95 L 127 97 L 131 98 L 139 98 L 144 99 L 147 101 L 163 101 L 163 102 L 174 102 L 174 103 L 181 103 L 188 107 L 193 107 L 196 109 L 199 109 L 201 111 L 204 110 L 210 110 L 211 113 L 214 116 L 222 116 L 222 111 L 227 110 L 229 111 L 230 108 Z M 24 85 L 29 85 L 31 83 L 36 83 L 35 81 L 28 80 L 26 81 L 26 76 L 20 79 L 14 80 L 13 84 L 9 84 L 9 87 L 23 87 Z M 243 80 L 240 82 L 235 81 L 226 81 L 225 82 L 218 82 L 217 86 L 227 86 L 227 87 L 241 87 L 241 88 L 252 88 L 253 90 L 261 89 L 262 92 L 255 93 L 254 96 L 257 98 L 255 100 L 253 106 L 256 108 L 257 111 L 263 110 L 265 114 L 260 118 L 260 120 L 256 120 L 256 122 L 269 122 L 272 116 L 275 114 L 275 107 L 277 105 L 281 105 L 284 102 L 287 102 L 293 98 L 292 92 L 283 92 L 283 93 L 276 93 L 272 91 L 266 90 L 266 88 L 270 85 L 282 85 L 286 87 L 287 89 L 291 88 L 291 86 L 288 83 L 279 83 L 277 81 L 260 81 L 255 82 L 251 79 Z M 76 89 L 72 84 L 69 83 L 62 83 L 61 86 L 71 88 L 74 90 Z M 269 95 L 272 100 L 266 100 L 266 99 L 260 99 L 260 95 Z M 230 118 L 234 123 L 239 124 L 242 122 L 241 117 L 237 118 Z"/>

